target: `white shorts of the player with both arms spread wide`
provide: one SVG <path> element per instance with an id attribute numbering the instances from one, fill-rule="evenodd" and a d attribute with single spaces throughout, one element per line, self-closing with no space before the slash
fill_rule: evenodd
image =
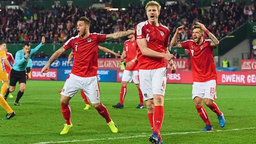
<path id="1" fill-rule="evenodd" d="M 100 89 L 97 76 L 84 78 L 71 73 L 67 77 L 60 94 L 73 97 L 79 89 L 85 93 L 92 104 L 100 103 Z"/>

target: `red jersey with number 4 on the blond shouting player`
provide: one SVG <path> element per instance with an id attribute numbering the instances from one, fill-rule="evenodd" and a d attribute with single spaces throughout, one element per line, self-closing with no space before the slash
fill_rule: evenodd
<path id="1" fill-rule="evenodd" d="M 148 21 L 143 21 L 135 26 L 135 38 L 147 40 L 148 48 L 154 51 L 165 53 L 165 48 L 169 45 L 169 29 L 159 23 L 159 26 L 153 26 Z M 164 58 L 148 57 L 141 54 L 138 50 L 138 67 L 143 70 L 163 68 L 167 66 Z"/>

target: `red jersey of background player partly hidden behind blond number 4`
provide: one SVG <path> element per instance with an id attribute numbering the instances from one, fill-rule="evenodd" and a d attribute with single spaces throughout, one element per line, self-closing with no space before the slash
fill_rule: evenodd
<path id="1" fill-rule="evenodd" d="M 137 55 L 137 49 L 138 49 L 138 45 L 136 40 L 133 40 L 132 42 L 130 40 L 126 40 L 124 42 L 124 51 L 126 51 L 126 63 L 128 63 L 129 61 L 131 61 L 132 59 L 134 59 Z M 126 67 L 126 70 L 138 70 L 138 61 L 135 61 L 132 66 L 130 67 Z"/>

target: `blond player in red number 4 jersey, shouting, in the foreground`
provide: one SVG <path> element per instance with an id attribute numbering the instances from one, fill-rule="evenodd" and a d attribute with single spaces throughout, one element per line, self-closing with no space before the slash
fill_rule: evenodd
<path id="1" fill-rule="evenodd" d="M 148 119 L 153 131 L 149 141 L 163 144 L 160 130 L 164 117 L 164 96 L 167 80 L 167 63 L 174 73 L 169 46 L 169 29 L 158 23 L 161 5 L 150 1 L 145 6 L 147 21 L 135 26 L 135 38 L 139 46 L 137 55 L 139 68 L 139 85 L 148 108 Z"/>

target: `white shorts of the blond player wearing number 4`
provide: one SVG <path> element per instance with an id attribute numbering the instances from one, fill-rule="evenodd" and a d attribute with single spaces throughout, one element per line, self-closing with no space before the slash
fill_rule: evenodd
<path id="1" fill-rule="evenodd" d="M 139 70 L 139 86 L 144 100 L 152 99 L 155 94 L 165 96 L 166 80 L 166 68 Z"/>

